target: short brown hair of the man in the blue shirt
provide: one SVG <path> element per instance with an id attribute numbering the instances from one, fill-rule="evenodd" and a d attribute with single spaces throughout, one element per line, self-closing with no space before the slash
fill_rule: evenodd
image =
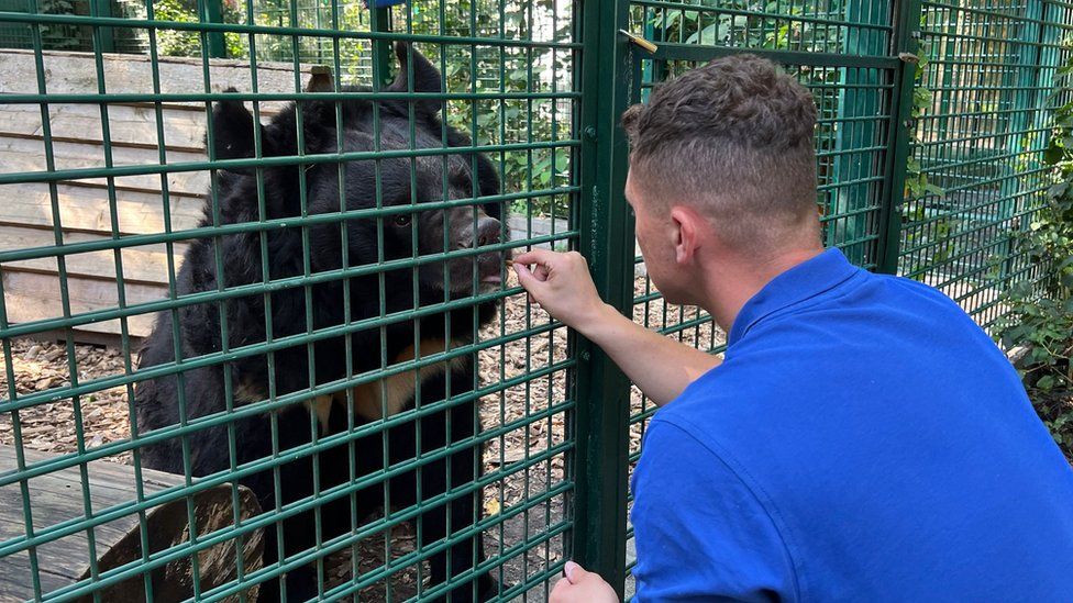
<path id="1" fill-rule="evenodd" d="M 695 203 L 749 248 L 815 222 L 815 126 L 808 90 L 748 54 L 687 71 L 622 114 L 645 197 Z"/>

